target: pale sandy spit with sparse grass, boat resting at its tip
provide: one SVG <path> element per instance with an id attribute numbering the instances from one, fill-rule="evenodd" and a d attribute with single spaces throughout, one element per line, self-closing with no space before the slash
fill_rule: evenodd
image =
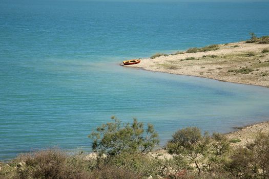
<path id="1" fill-rule="evenodd" d="M 146 58 L 128 67 L 269 87 L 269 44 L 242 41 L 219 44 L 218 48 Z"/>

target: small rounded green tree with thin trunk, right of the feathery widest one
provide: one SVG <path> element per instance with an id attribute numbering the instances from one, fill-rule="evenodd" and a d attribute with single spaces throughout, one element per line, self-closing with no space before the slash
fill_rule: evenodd
<path id="1" fill-rule="evenodd" d="M 183 155 L 193 162 L 198 169 L 198 175 L 202 170 L 202 162 L 208 155 L 210 149 L 210 137 L 208 132 L 201 135 L 197 127 L 187 127 L 178 130 L 168 142 L 168 152 L 171 154 Z"/>

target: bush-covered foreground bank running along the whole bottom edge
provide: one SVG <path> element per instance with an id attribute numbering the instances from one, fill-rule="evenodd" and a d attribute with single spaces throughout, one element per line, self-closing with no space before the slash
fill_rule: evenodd
<path id="1" fill-rule="evenodd" d="M 47 149 L 0 163 L 0 178 L 269 178 L 269 122 L 222 135 L 179 129 L 163 149 L 154 126 L 134 119 L 92 131 L 95 152 Z"/>

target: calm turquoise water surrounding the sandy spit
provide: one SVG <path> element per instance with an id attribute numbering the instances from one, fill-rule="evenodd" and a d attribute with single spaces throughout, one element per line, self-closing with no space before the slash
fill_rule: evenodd
<path id="1" fill-rule="evenodd" d="M 269 3 L 1 1 L 0 160 L 133 117 L 161 145 L 180 127 L 228 132 L 268 120 L 269 89 L 123 68 L 123 59 L 268 35 Z"/>

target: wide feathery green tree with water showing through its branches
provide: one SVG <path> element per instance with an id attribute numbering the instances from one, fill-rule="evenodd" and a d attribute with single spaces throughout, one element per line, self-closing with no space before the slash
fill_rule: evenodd
<path id="1" fill-rule="evenodd" d="M 113 122 L 102 124 L 89 135 L 93 140 L 94 151 L 110 155 L 121 152 L 148 152 L 159 144 L 153 125 L 148 124 L 144 132 L 143 123 L 137 119 L 134 119 L 132 124 L 122 123 L 114 116 L 111 119 Z"/>

